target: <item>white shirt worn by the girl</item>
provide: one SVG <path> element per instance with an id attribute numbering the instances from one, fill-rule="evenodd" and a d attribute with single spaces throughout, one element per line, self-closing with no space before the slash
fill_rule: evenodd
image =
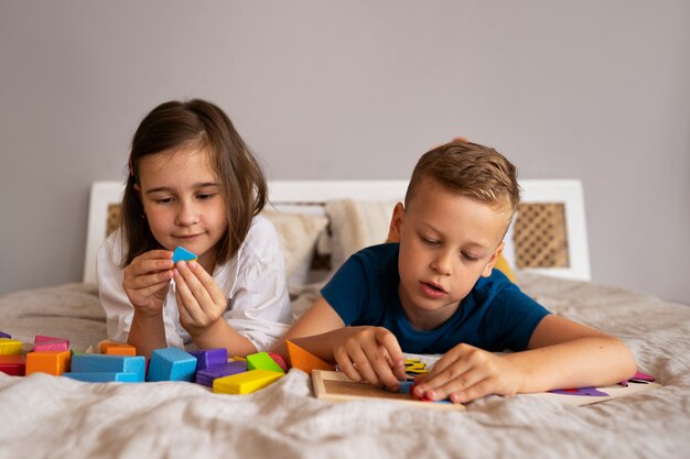
<path id="1" fill-rule="evenodd" d="M 106 312 L 108 338 L 125 342 L 134 316 L 134 307 L 122 287 L 123 271 L 120 231 L 108 237 L 98 249 L 96 273 L 100 304 Z M 237 254 L 216 265 L 213 278 L 225 292 L 228 304 L 223 317 L 256 348 L 269 349 L 288 331 L 292 321 L 285 267 L 276 229 L 266 218 L 252 219 L 249 232 Z M 168 346 L 184 348 L 192 341 L 180 325 L 175 281 L 163 305 Z"/>

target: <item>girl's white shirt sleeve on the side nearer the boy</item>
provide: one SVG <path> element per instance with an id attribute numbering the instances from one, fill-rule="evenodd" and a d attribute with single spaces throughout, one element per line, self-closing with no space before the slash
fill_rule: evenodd
<path id="1" fill-rule="evenodd" d="M 270 221 L 254 218 L 236 261 L 227 266 L 236 278 L 223 317 L 257 350 L 267 350 L 292 323 L 282 250 Z"/>

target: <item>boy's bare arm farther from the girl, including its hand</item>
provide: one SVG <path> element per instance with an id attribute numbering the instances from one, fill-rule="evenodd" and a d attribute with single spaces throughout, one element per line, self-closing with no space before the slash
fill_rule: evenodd
<path id="1" fill-rule="evenodd" d="M 470 402 L 488 394 L 610 385 L 635 373 L 618 339 L 560 316 L 545 317 L 528 350 L 495 356 L 467 345 L 451 349 L 416 387 L 416 395 Z"/>

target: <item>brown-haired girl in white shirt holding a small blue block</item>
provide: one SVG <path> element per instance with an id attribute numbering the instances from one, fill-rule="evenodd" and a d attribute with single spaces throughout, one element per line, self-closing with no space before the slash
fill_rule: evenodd
<path id="1" fill-rule="evenodd" d="M 108 338 L 140 354 L 193 341 L 230 356 L 267 349 L 290 321 L 267 185 L 229 118 L 204 100 L 154 108 L 134 133 L 121 225 L 100 247 Z M 196 261 L 172 261 L 184 247 Z"/>

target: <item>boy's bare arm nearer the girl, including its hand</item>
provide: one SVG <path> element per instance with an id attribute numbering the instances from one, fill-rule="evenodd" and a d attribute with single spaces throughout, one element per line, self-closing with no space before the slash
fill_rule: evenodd
<path id="1" fill-rule="evenodd" d="M 287 357 L 284 340 L 291 340 L 354 381 L 397 390 L 405 379 L 402 351 L 396 337 L 381 327 L 346 327 L 328 302 L 320 297 L 288 331 L 274 352 Z"/>

